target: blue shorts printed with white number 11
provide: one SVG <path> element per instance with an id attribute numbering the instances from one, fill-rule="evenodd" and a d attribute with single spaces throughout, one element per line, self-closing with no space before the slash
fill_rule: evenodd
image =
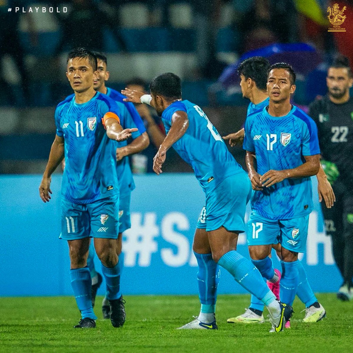
<path id="1" fill-rule="evenodd" d="M 118 238 L 119 195 L 79 205 L 61 200 L 61 238 Z"/>

